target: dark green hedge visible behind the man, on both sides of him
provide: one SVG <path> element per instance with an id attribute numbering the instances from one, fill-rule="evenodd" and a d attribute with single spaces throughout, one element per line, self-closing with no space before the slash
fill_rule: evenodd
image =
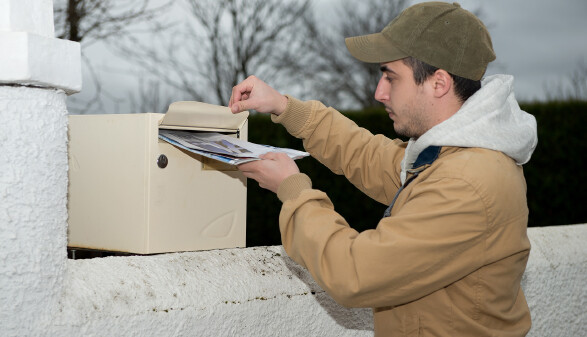
<path id="1" fill-rule="evenodd" d="M 524 166 L 528 183 L 529 226 L 553 226 L 587 222 L 587 207 L 580 204 L 587 174 L 581 162 L 587 153 L 581 132 L 587 123 L 587 102 L 524 104 L 522 108 L 538 121 L 538 148 Z M 374 134 L 397 137 L 383 109 L 346 112 L 359 126 Z M 249 117 L 249 140 L 303 150 L 299 139 L 273 124 L 264 114 Z M 337 176 L 313 158 L 296 161 L 315 188 L 328 194 L 334 207 L 355 229 L 374 228 L 387 205 L 359 192 L 344 177 Z M 275 194 L 248 181 L 247 246 L 280 244 L 278 226 L 281 202 Z"/>

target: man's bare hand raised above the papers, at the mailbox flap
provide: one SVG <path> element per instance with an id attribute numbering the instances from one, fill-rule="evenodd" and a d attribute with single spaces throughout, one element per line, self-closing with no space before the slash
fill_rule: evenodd
<path id="1" fill-rule="evenodd" d="M 256 110 L 278 116 L 285 111 L 286 106 L 287 97 L 255 76 L 249 76 L 232 88 L 228 104 L 232 113 Z"/>

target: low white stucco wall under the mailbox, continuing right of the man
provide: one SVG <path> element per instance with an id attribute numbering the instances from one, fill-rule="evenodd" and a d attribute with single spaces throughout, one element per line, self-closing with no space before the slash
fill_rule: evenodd
<path id="1" fill-rule="evenodd" d="M 529 336 L 587 336 L 587 225 L 531 228 Z M 69 260 L 50 336 L 371 336 L 281 246 Z"/>

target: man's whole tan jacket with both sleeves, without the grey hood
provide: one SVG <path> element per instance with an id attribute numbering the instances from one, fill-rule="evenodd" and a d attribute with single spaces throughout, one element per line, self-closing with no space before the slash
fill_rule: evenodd
<path id="1" fill-rule="evenodd" d="M 317 101 L 289 98 L 273 120 L 369 197 L 392 202 L 406 143 Z M 289 177 L 278 190 L 286 252 L 338 303 L 373 308 L 376 336 L 524 336 L 530 243 L 521 166 L 498 151 L 443 147 L 408 178 L 415 171 L 391 216 L 361 233 L 306 175 Z"/>

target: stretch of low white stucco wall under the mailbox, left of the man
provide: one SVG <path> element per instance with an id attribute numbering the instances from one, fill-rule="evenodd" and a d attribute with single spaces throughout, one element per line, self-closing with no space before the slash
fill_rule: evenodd
<path id="1" fill-rule="evenodd" d="M 54 336 L 369 336 L 277 247 L 70 260 Z"/>

